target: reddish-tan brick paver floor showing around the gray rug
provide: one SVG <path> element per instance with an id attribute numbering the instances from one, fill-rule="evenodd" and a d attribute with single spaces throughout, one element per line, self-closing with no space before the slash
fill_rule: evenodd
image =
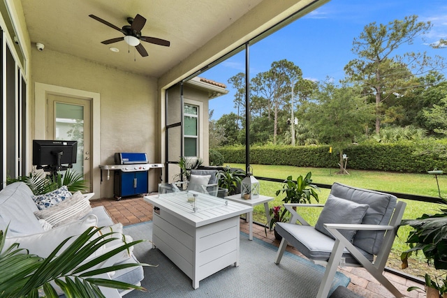
<path id="1" fill-rule="evenodd" d="M 145 202 L 143 198 L 124 198 L 122 200 L 115 200 L 115 198 L 103 198 L 98 200 L 91 200 L 91 206 L 104 206 L 108 213 L 116 223 L 122 223 L 123 225 L 132 225 L 134 223 L 142 223 L 152 220 L 152 205 Z M 241 218 L 240 229 L 242 232 L 249 233 L 249 225 Z M 265 242 L 279 246 L 279 241 L 274 239 L 273 232 L 268 232 L 265 236 L 263 225 L 254 225 L 253 236 L 262 239 Z M 301 255 L 295 248 L 288 246 L 287 251 Z M 301 255 L 302 256 L 302 255 Z M 339 271 L 351 278 L 351 283 L 348 288 L 358 295 L 363 297 L 394 297 L 386 290 L 380 283 L 378 283 L 365 269 L 356 267 L 340 267 Z M 385 273 L 386 277 L 396 286 L 397 289 L 411 298 L 423 298 L 425 292 L 411 291 L 407 292 L 406 289 L 412 285 L 417 285 L 423 288 L 423 285 L 410 281 L 402 276 L 397 276 L 389 272 Z"/>

